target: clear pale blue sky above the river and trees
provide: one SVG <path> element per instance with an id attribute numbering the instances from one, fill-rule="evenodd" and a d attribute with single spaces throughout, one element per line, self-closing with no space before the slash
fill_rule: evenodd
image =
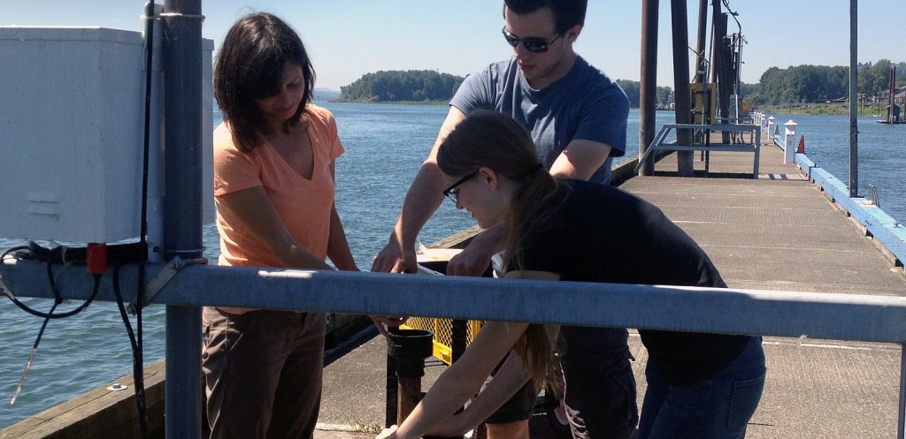
<path id="1" fill-rule="evenodd" d="M 93 25 L 140 31 L 142 5 L 142 0 L 0 0 L 0 25 Z M 214 40 L 216 50 L 226 29 L 242 14 L 278 14 L 293 24 L 311 52 L 316 86 L 340 90 L 369 72 L 437 70 L 465 76 L 506 59 L 511 49 L 500 35 L 502 5 L 499 0 L 205 1 L 202 34 Z M 692 47 L 698 5 L 688 2 Z M 850 0 L 729 0 L 729 5 L 738 13 L 748 42 L 742 51 L 742 81 L 757 82 L 774 66 L 849 63 Z M 888 36 L 902 37 L 902 9 L 902 0 L 860 2 L 860 62 L 906 61 L 901 47 Z M 660 1 L 659 27 L 658 85 L 672 87 L 668 0 Z M 738 32 L 732 20 L 729 29 Z M 590 0 L 575 48 L 613 79 L 638 81 L 640 35 L 641 0 Z"/>

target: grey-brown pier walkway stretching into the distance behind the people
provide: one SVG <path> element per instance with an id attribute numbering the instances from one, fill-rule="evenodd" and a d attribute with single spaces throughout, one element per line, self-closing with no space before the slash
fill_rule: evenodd
<path id="1" fill-rule="evenodd" d="M 657 163 L 655 177 L 622 187 L 659 205 L 695 238 L 731 288 L 906 296 L 903 268 L 892 255 L 762 138 L 758 179 L 749 154 L 712 152 L 705 177 L 696 153 L 696 177 L 685 178 L 676 177 L 671 154 Z M 375 333 L 363 331 L 325 368 L 316 438 L 373 437 L 362 432 L 383 424 L 386 343 Z M 630 348 L 641 406 L 647 355 L 637 334 Z M 899 345 L 767 337 L 765 351 L 765 393 L 748 438 L 896 434 Z M 423 389 L 444 368 L 433 358 L 427 363 Z M 532 426 L 533 437 L 554 437 L 543 415 Z"/>

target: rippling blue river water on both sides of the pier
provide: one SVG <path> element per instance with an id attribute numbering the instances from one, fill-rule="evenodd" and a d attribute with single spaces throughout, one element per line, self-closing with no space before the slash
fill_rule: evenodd
<path id="1" fill-rule="evenodd" d="M 352 254 L 362 270 L 387 242 L 399 214 L 410 181 L 428 154 L 445 106 L 410 106 L 319 102 L 337 119 L 346 153 L 337 161 L 337 209 L 345 225 Z M 794 119 L 798 134 L 805 135 L 806 155 L 816 165 L 848 181 L 848 119 L 839 116 L 787 116 Z M 216 115 L 216 123 L 217 120 Z M 657 124 L 673 121 L 673 113 L 659 111 Z M 863 118 L 860 129 L 860 190 L 878 187 L 885 211 L 906 219 L 906 125 L 885 126 Z M 627 157 L 638 151 L 639 113 L 629 118 Z M 419 239 L 431 243 L 474 224 L 465 211 L 445 201 L 426 225 Z M 204 228 L 206 256 L 217 258 L 217 230 Z M 0 238 L 0 248 L 20 241 Z M 39 310 L 50 301 L 24 299 Z M 163 307 L 154 305 L 144 312 L 145 358 L 148 363 L 163 358 Z M 13 396 L 25 361 L 42 320 L 18 310 L 0 298 L 0 428 L 59 404 L 72 396 L 131 372 L 130 343 L 111 303 L 95 303 L 84 312 L 48 325 L 22 394 L 14 406 Z"/>

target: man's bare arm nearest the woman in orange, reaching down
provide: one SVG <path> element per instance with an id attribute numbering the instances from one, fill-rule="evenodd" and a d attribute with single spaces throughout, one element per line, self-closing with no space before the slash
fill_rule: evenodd
<path id="1" fill-rule="evenodd" d="M 441 191 L 446 183 L 446 178 L 438 168 L 438 148 L 449 132 L 463 119 L 466 119 L 466 114 L 451 106 L 428 158 L 421 164 L 419 174 L 406 193 L 400 216 L 393 227 L 393 233 L 390 234 L 390 241 L 371 265 L 372 272 L 418 271 L 415 261 L 415 240 L 421 227 L 428 222 L 443 201 Z"/>

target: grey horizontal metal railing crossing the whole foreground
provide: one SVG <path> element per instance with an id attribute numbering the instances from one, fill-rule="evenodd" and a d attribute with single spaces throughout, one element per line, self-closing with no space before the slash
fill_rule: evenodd
<path id="1" fill-rule="evenodd" d="M 164 264 L 147 267 L 149 278 Z M 120 271 L 134 285 L 137 267 Z M 53 298 L 43 263 L 0 264 L 5 288 L 17 296 Z M 80 267 L 55 267 L 64 298 L 84 300 L 92 276 Z M 127 289 L 129 290 L 129 289 Z M 249 295 L 247 291 L 261 291 Z M 111 301 L 111 276 L 98 300 Z M 130 301 L 132 298 L 124 297 Z M 160 289 L 153 303 L 319 310 L 470 320 L 506 320 L 692 332 L 897 343 L 906 347 L 906 298 L 800 291 L 708 289 L 589 282 L 544 282 L 369 272 L 308 272 L 194 265 Z M 179 334 L 174 334 L 178 339 Z M 168 344 L 170 343 L 168 338 Z M 168 347 L 169 348 L 169 347 Z M 906 357 L 901 356 L 898 436 L 903 437 Z M 197 385 L 198 374 L 168 379 Z M 189 383 L 188 380 L 194 380 Z M 180 383 L 169 383 L 178 386 Z M 196 410 L 200 401 L 171 401 Z M 169 422 L 169 418 L 168 418 Z"/>

